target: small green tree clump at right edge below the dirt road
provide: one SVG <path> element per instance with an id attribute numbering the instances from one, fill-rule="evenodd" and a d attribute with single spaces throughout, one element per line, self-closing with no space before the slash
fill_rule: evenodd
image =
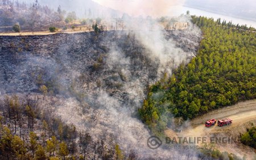
<path id="1" fill-rule="evenodd" d="M 252 127 L 242 135 L 241 141 L 244 145 L 251 146 L 256 149 L 256 127 Z"/>

